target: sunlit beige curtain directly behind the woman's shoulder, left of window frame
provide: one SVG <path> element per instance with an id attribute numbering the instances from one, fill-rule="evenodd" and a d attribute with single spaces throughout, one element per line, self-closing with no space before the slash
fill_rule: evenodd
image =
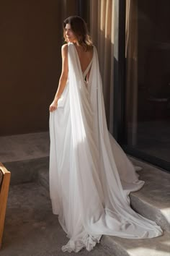
<path id="1" fill-rule="evenodd" d="M 113 131 L 114 0 L 91 0 L 90 34 L 97 47 L 107 126 Z"/>

